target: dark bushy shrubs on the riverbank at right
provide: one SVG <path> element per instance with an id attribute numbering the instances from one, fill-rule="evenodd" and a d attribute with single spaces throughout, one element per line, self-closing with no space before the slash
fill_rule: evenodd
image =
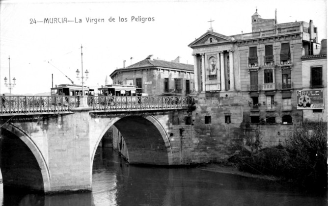
<path id="1" fill-rule="evenodd" d="M 303 124 L 288 141 L 235 156 L 240 170 L 274 175 L 306 187 L 327 187 L 327 126 Z"/>

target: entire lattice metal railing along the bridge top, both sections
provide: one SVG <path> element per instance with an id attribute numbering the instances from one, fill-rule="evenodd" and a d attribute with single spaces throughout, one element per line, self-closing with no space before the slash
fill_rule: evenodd
<path id="1" fill-rule="evenodd" d="M 81 106 L 94 112 L 183 109 L 190 101 L 188 96 L 8 96 L 2 97 L 0 116 L 65 114 Z"/>

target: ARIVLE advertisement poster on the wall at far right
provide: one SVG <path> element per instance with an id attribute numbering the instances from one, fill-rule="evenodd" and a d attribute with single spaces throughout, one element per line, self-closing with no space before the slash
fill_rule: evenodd
<path id="1" fill-rule="evenodd" d="M 297 109 L 324 109 L 324 90 L 298 90 L 296 101 Z"/>

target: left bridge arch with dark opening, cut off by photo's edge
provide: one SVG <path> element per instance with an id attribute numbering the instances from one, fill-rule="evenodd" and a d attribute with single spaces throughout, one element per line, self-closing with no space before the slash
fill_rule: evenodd
<path id="1" fill-rule="evenodd" d="M 18 137 L 21 141 L 14 140 L 17 138 L 14 138 L 13 140 L 9 140 L 9 141 L 15 141 L 18 144 L 20 144 L 20 142 L 22 142 L 22 144 L 20 144 L 21 148 L 24 149 L 24 147 L 27 147 L 30 150 L 30 153 L 32 154 L 32 156 L 30 156 L 30 157 L 35 157 L 35 160 L 31 160 L 31 161 L 36 161 L 36 164 L 39 167 L 39 168 L 37 168 L 39 170 L 39 172 L 34 172 L 33 174 L 25 174 L 24 172 L 26 172 L 26 171 L 17 171 L 18 173 L 10 174 L 10 173 L 6 173 L 6 169 L 1 168 L 3 186 L 4 187 L 13 186 L 15 188 L 28 189 L 28 190 L 44 192 L 44 193 L 50 192 L 51 191 L 50 190 L 50 179 L 51 178 L 50 178 L 49 167 L 46 163 L 45 157 L 43 156 L 42 152 L 39 150 L 39 148 L 37 147 L 35 142 L 31 139 L 31 137 L 26 132 L 24 132 L 22 129 L 20 129 L 12 124 L 5 123 L 1 126 L 1 129 L 3 129 L 1 133 L 9 132 L 12 135 Z M 4 149 L 1 148 L 1 159 L 3 158 L 2 157 L 3 150 Z M 21 151 L 11 151 L 11 152 L 15 152 L 18 154 Z M 22 156 L 24 158 L 24 155 L 21 155 L 21 157 Z M 28 158 L 28 157 L 26 157 L 26 158 Z M 25 159 L 22 159 L 22 161 L 24 161 L 24 160 Z M 1 164 L 6 164 L 6 163 L 1 160 Z M 5 166 L 5 165 L 3 165 L 3 166 Z M 8 165 L 6 165 L 6 166 L 8 166 Z M 34 169 L 36 169 L 35 167 L 36 167 L 36 165 L 34 165 Z M 15 169 L 19 170 L 19 168 L 15 168 Z M 15 181 L 15 179 L 17 177 L 13 177 L 14 175 L 20 175 L 22 177 L 19 177 L 19 179 Z M 28 180 L 28 178 L 30 178 L 30 179 Z M 19 180 L 20 180 L 20 182 L 17 182 Z"/>

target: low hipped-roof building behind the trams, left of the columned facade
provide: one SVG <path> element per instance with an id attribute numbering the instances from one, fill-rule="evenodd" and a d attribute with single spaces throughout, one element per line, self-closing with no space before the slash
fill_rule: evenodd
<path id="1" fill-rule="evenodd" d="M 109 76 L 114 84 L 136 85 L 148 95 L 188 95 L 193 89 L 193 65 L 180 63 L 179 59 L 164 61 L 149 55 Z"/>

